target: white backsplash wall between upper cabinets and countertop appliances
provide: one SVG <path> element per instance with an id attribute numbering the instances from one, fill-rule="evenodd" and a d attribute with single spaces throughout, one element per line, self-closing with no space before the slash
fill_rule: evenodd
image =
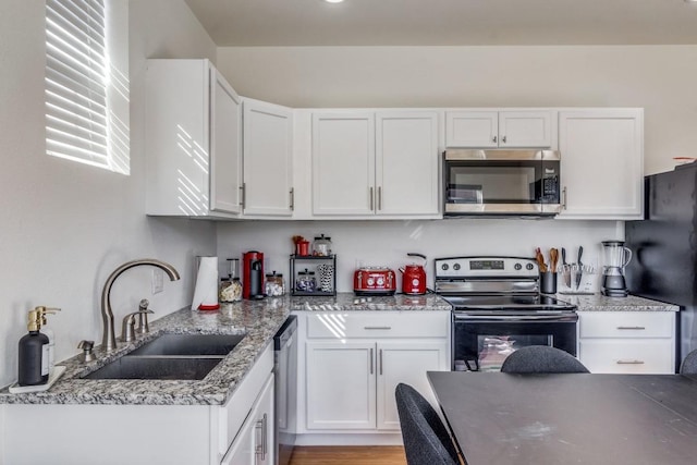
<path id="1" fill-rule="evenodd" d="M 418 262 L 409 252 L 427 256 L 428 285 L 433 284 L 433 258 L 456 255 L 510 255 L 533 257 L 541 247 L 549 259 L 550 247 L 565 247 L 575 261 L 579 245 L 583 261 L 602 265 L 600 242 L 624 237 L 620 221 L 563 221 L 522 219 L 375 220 L 375 221 L 243 221 L 218 224 L 218 257 L 221 273 L 225 258 L 241 258 L 247 250 L 264 253 L 265 273 L 283 273 L 289 285 L 289 255 L 293 235 L 311 240 L 325 234 L 337 254 L 337 290 L 353 291 L 357 266 L 399 267 Z M 561 258 L 560 258 L 561 261 Z M 242 262 L 242 261 L 241 261 Z M 401 278 L 398 272 L 398 283 Z M 398 287 L 400 289 L 400 287 Z"/>

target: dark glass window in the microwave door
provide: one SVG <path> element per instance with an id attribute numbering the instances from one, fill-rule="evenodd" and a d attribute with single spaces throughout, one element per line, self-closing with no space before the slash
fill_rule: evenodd
<path id="1" fill-rule="evenodd" d="M 451 204 L 529 204 L 539 197 L 534 166 L 449 167 Z"/>

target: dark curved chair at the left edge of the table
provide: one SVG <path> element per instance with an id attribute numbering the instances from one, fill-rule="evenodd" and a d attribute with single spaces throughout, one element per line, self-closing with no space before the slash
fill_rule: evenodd
<path id="1" fill-rule="evenodd" d="M 421 394 L 399 383 L 394 395 L 408 465 L 460 465 L 448 429 Z"/>

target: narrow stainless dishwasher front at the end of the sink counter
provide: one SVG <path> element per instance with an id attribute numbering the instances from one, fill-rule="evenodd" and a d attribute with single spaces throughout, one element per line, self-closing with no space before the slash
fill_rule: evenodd
<path id="1" fill-rule="evenodd" d="M 273 338 L 276 463 L 288 465 L 295 446 L 297 412 L 297 317 L 288 317 Z"/>

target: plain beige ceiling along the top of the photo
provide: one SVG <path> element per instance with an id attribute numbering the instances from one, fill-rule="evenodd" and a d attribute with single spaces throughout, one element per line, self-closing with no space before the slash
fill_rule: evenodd
<path id="1" fill-rule="evenodd" d="M 219 47 L 695 45 L 684 0 L 185 0 Z"/>

